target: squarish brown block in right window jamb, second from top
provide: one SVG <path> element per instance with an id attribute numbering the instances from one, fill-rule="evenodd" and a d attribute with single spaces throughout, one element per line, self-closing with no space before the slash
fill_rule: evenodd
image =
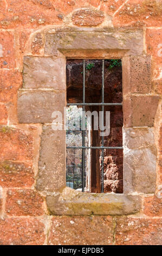
<path id="1" fill-rule="evenodd" d="M 159 99 L 158 95 L 126 97 L 123 102 L 125 126 L 154 126 Z"/>

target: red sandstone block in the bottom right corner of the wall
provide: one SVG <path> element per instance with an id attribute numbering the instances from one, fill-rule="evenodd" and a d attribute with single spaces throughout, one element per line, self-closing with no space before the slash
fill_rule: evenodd
<path id="1" fill-rule="evenodd" d="M 161 245 L 160 218 L 119 217 L 116 221 L 116 245 Z"/>

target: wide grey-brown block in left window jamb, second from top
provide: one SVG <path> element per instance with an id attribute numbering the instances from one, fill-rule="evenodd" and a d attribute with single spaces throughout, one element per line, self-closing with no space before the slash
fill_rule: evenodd
<path id="1" fill-rule="evenodd" d="M 20 123 L 51 123 L 54 111 L 61 111 L 65 103 L 65 92 L 19 92 L 17 111 Z"/>

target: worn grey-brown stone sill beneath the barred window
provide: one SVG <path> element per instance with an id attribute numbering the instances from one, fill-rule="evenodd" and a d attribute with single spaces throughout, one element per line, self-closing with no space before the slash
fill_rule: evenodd
<path id="1" fill-rule="evenodd" d="M 82 193 L 65 187 L 47 196 L 52 215 L 129 215 L 141 209 L 141 198 L 115 193 Z"/>

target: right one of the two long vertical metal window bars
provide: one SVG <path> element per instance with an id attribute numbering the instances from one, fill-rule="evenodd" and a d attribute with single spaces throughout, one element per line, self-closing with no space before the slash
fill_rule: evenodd
<path id="1" fill-rule="evenodd" d="M 104 103 L 104 59 L 102 59 L 102 103 Z M 102 105 L 102 129 L 104 126 L 104 105 Z M 104 146 L 104 137 L 102 130 L 102 147 Z M 104 149 L 101 152 L 101 192 L 104 192 Z"/>

